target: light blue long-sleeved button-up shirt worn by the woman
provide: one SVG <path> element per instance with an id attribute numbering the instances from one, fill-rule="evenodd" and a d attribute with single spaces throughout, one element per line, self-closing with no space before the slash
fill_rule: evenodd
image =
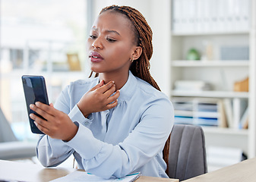
<path id="1" fill-rule="evenodd" d="M 129 72 L 115 108 L 84 118 L 77 102 L 99 78 L 77 80 L 55 102 L 77 124 L 68 142 L 42 135 L 37 157 L 44 166 L 56 166 L 71 154 L 78 168 L 100 177 L 123 177 L 141 171 L 144 176 L 167 177 L 163 147 L 172 130 L 174 115 L 168 97 Z"/>

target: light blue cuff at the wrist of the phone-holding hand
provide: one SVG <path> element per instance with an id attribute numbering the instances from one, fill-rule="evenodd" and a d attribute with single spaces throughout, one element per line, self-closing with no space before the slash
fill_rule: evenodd
<path id="1" fill-rule="evenodd" d="M 93 137 L 93 133 L 87 127 L 77 121 L 74 121 L 74 124 L 78 126 L 77 133 L 73 139 L 65 143 L 86 160 L 95 157 L 102 149 L 103 142 Z"/>

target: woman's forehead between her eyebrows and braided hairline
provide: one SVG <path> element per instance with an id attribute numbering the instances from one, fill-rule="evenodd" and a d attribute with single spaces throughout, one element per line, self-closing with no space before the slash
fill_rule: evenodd
<path id="1" fill-rule="evenodd" d="M 121 35 L 124 33 L 132 33 L 131 21 L 128 17 L 125 17 L 125 14 L 111 11 L 100 14 L 93 24 L 93 29 L 100 31 L 115 30 Z"/>

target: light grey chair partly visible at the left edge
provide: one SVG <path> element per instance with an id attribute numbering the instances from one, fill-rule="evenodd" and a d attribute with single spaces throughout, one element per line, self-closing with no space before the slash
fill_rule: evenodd
<path id="1" fill-rule="evenodd" d="M 18 141 L 0 108 L 0 159 L 14 160 L 36 156 L 36 143 Z"/>

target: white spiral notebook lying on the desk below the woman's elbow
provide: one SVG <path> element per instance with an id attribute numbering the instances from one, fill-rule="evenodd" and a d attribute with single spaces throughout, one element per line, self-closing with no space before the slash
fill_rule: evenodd
<path id="1" fill-rule="evenodd" d="M 111 182 L 111 181 L 122 181 L 122 182 L 131 182 L 137 180 L 141 176 L 141 173 L 128 174 L 122 178 L 111 177 L 109 180 L 104 179 L 103 177 L 97 177 L 93 174 L 84 172 L 84 171 L 74 171 L 71 174 L 66 175 L 65 177 L 59 177 L 58 179 L 51 180 L 51 182 L 81 182 L 81 181 L 98 181 L 98 182 Z"/>

